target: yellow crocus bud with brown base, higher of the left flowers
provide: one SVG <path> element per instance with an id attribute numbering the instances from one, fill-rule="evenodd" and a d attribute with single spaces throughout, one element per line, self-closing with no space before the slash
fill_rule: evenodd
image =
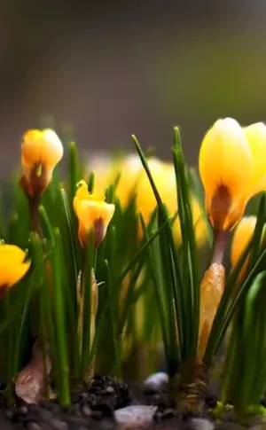
<path id="1" fill-rule="evenodd" d="M 27 130 L 21 145 L 21 182 L 28 196 L 40 196 L 45 191 L 63 152 L 63 145 L 52 129 Z"/>

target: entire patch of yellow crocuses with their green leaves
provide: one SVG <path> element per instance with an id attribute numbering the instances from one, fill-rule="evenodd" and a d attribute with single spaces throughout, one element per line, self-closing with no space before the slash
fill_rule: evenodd
<path id="1" fill-rule="evenodd" d="M 72 390 L 95 373 L 132 379 L 143 350 L 141 365 L 155 370 L 153 351 L 162 342 L 177 408 L 201 410 L 223 346 L 221 404 L 240 415 L 261 413 L 266 127 L 226 118 L 207 131 L 199 159 L 205 208 L 177 128 L 172 163 L 133 142 L 136 155 L 116 157 L 104 174 L 95 168 L 88 177 L 70 139 L 64 151 L 52 129 L 23 137 L 20 180 L 3 195 L 0 217 L 6 401 L 13 404 L 14 393 L 29 403 L 52 395 L 67 406 Z M 60 182 L 63 152 L 68 169 Z M 256 216 L 243 216 L 259 192 Z M 206 265 L 199 250 L 210 241 Z"/>

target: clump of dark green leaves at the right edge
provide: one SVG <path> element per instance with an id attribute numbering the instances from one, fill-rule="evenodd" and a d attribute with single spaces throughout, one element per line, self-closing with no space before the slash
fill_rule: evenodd
<path id="1" fill-rule="evenodd" d="M 238 267 L 231 273 L 228 289 L 235 297 L 228 309 L 232 317 L 231 333 L 224 365 L 223 402 L 230 401 L 239 414 L 257 413 L 266 389 L 265 293 L 266 293 L 266 221 L 265 193 L 262 194 L 254 236 L 243 250 Z M 240 270 L 249 254 L 245 277 Z M 231 317 L 230 322 L 231 322 Z"/>

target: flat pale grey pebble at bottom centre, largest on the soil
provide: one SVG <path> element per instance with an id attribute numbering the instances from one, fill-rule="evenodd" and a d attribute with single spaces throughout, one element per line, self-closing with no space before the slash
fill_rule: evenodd
<path id="1" fill-rule="evenodd" d="M 124 427 L 147 426 L 152 423 L 155 406 L 132 405 L 114 411 L 114 418 Z"/>

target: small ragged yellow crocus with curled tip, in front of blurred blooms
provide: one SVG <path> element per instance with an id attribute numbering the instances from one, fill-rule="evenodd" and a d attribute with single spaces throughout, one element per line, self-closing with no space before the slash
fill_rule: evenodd
<path id="1" fill-rule="evenodd" d="M 74 212 L 79 223 L 79 240 L 86 246 L 90 231 L 94 229 L 95 246 L 99 246 L 106 236 L 106 230 L 113 218 L 114 205 L 106 203 L 105 196 L 88 191 L 85 181 L 77 184 L 77 191 L 73 201 Z"/>

